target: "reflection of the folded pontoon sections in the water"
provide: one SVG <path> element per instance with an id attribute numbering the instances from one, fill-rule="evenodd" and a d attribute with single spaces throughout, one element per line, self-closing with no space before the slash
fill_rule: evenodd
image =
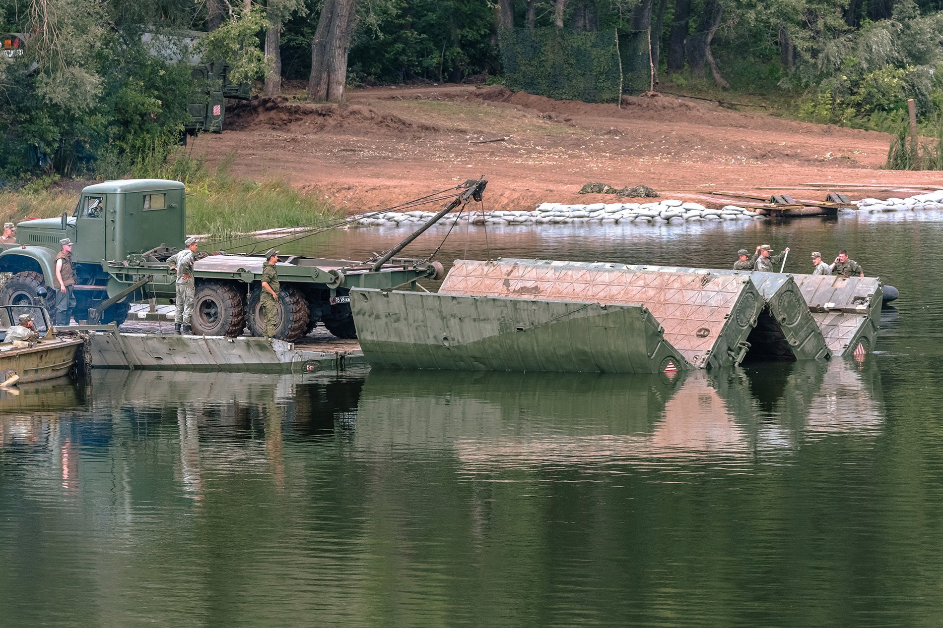
<path id="1" fill-rule="evenodd" d="M 766 365 L 765 365 L 766 366 Z M 859 367 L 861 370 L 859 370 Z M 786 362 L 665 376 L 373 371 L 356 438 L 370 448 L 443 439 L 467 468 L 742 459 L 882 425 L 874 365 Z M 764 396 L 775 383 L 773 398 Z M 374 442 L 375 443 L 371 443 Z"/>

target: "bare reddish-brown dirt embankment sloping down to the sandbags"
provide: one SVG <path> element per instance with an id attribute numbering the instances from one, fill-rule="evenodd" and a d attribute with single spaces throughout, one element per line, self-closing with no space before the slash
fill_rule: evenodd
<path id="1" fill-rule="evenodd" d="M 227 113 L 223 134 L 196 140 L 210 164 L 235 153 L 237 176 L 285 179 L 350 213 L 478 175 L 490 181 L 489 209 L 521 209 L 611 200 L 577 195 L 588 182 L 644 184 L 662 197 L 704 201 L 708 190 L 926 185 L 938 174 L 879 169 L 885 134 L 668 96 L 626 97 L 617 107 L 433 86 L 353 90 L 342 105 L 257 99 Z"/>

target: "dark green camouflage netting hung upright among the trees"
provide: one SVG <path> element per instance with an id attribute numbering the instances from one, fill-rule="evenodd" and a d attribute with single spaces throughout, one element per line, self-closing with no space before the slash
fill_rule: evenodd
<path id="1" fill-rule="evenodd" d="M 585 103 L 616 103 L 620 89 L 633 95 L 649 89 L 643 31 L 503 28 L 498 42 L 509 89 Z"/>

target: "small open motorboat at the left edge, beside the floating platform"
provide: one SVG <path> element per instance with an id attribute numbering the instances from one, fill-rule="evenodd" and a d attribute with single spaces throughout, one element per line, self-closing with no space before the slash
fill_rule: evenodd
<path id="1" fill-rule="evenodd" d="M 20 314 L 32 314 L 42 336 L 34 346 L 4 342 Z M 39 314 L 39 315 L 37 315 Z M 0 385 L 61 378 L 69 374 L 85 341 L 56 336 L 49 313 L 41 305 L 0 306 Z"/>

